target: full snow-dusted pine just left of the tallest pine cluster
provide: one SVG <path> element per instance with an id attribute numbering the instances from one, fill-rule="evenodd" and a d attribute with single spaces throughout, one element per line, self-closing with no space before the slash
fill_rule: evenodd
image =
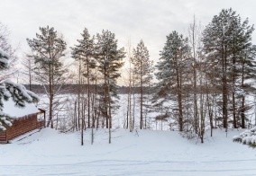
<path id="1" fill-rule="evenodd" d="M 160 51 L 160 61 L 156 68 L 157 79 L 160 81 L 156 96 L 164 101 L 176 101 L 178 129 L 183 130 L 183 88 L 185 86 L 185 71 L 190 55 L 187 38 L 173 31 L 167 36 L 164 48 Z"/>

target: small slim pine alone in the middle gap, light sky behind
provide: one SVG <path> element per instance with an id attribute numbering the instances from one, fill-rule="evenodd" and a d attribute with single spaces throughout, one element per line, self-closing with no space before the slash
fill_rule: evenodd
<path id="1" fill-rule="evenodd" d="M 152 80 L 152 61 L 150 60 L 149 50 L 145 47 L 144 42 L 141 40 L 137 47 L 133 49 L 133 73 L 137 78 L 136 82 L 140 87 L 140 128 L 143 127 L 143 96 L 146 93 L 145 87 L 149 88 Z M 145 124 L 146 125 L 146 124 Z"/>

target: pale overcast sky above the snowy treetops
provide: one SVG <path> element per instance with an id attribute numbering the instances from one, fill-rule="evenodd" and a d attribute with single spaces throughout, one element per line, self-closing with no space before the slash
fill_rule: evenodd
<path id="1" fill-rule="evenodd" d="M 129 38 L 133 47 L 142 39 L 156 61 L 166 36 L 171 31 L 186 34 L 194 14 L 206 26 L 230 7 L 256 23 L 255 0 L 0 0 L 0 22 L 12 32 L 12 43 L 21 44 L 20 52 L 28 50 L 26 38 L 34 38 L 39 27 L 54 27 L 69 47 L 86 27 L 91 35 L 114 32 L 120 48 Z"/>

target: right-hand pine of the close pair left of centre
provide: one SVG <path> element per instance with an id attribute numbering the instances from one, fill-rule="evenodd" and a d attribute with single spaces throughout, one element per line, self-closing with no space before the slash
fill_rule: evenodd
<path id="1" fill-rule="evenodd" d="M 109 129 L 109 143 L 111 143 L 112 113 L 114 97 L 117 98 L 116 80 L 120 77 L 119 69 L 123 66 L 124 48 L 117 48 L 117 40 L 111 31 L 96 34 L 96 60 L 98 71 L 103 76 L 102 96 L 104 107 L 101 107 Z"/>

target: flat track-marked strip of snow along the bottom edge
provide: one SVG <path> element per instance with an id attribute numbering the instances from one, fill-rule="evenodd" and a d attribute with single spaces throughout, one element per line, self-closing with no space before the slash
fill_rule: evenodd
<path id="1" fill-rule="evenodd" d="M 98 160 L 53 165 L 1 165 L 1 175 L 255 175 L 255 160 L 180 162 Z"/>

